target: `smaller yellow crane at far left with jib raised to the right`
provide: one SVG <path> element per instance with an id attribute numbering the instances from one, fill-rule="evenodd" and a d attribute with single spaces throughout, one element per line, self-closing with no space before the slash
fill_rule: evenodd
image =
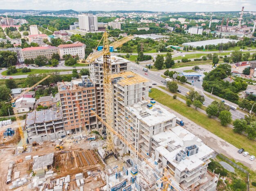
<path id="1" fill-rule="evenodd" d="M 38 84 L 40 84 L 41 82 L 45 81 L 47 78 L 49 78 L 50 75 L 46 76 L 45 78 L 41 79 L 40 81 L 38 81 L 36 84 L 34 84 L 33 86 L 31 86 L 30 88 L 28 88 L 27 90 L 25 90 L 24 92 L 22 92 L 21 94 L 19 94 L 17 97 L 13 98 L 12 95 L 10 94 L 10 97 L 11 97 L 11 101 L 7 102 L 7 103 L 11 103 L 12 107 L 13 107 L 13 113 L 15 115 L 15 118 L 16 118 L 16 121 L 17 121 L 17 124 L 18 124 L 18 129 L 19 129 L 19 132 L 20 132 L 20 139 L 22 141 L 22 147 L 24 148 L 24 150 L 26 150 L 26 140 L 25 140 L 25 137 L 24 137 L 24 133 L 23 133 L 23 130 L 22 130 L 22 126 L 20 124 L 20 118 L 18 116 L 18 112 L 17 112 L 17 108 L 16 105 L 15 105 L 15 101 L 22 97 L 25 93 L 29 92 L 30 90 L 32 90 L 33 88 L 35 88 Z"/>

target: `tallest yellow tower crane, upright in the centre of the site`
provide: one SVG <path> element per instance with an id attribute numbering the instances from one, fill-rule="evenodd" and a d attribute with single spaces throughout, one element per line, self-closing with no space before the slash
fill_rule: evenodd
<path id="1" fill-rule="evenodd" d="M 103 33 L 103 36 L 99 42 L 99 44 L 103 40 L 103 48 L 100 51 L 95 51 L 94 53 L 91 53 L 87 59 L 80 59 L 77 61 L 79 64 L 93 64 L 95 59 L 103 56 L 103 89 L 104 89 L 104 105 L 105 105 L 105 115 L 106 115 L 106 123 L 110 125 L 110 127 L 113 126 L 113 116 L 112 116 L 112 86 L 111 86 L 111 59 L 110 59 L 110 48 L 111 50 L 116 49 L 117 47 L 122 46 L 124 43 L 128 42 L 133 38 L 132 35 L 128 35 L 127 37 L 124 37 L 120 40 L 117 40 L 111 44 L 108 42 L 108 36 L 109 34 L 107 32 Z M 98 46 L 99 46 L 98 44 Z M 97 46 L 97 48 L 98 48 Z M 97 50 L 96 48 L 96 50 Z M 115 154 L 115 146 L 112 140 L 112 133 L 106 128 L 107 133 L 107 141 L 106 145 L 103 147 L 106 147 L 106 154 L 104 158 L 110 153 Z"/>

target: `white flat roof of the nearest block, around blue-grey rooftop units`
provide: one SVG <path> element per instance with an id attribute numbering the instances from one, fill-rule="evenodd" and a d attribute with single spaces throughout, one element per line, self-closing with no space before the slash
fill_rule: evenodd
<path id="1" fill-rule="evenodd" d="M 183 127 L 177 126 L 171 130 L 161 132 L 153 136 L 153 140 L 158 143 L 156 150 L 164 156 L 179 171 L 193 170 L 204 164 L 202 159 L 213 153 L 213 149 L 205 145 L 202 140 L 194 134 L 185 130 Z M 186 147 L 196 145 L 198 153 L 187 156 L 184 160 L 178 162 L 175 160 L 176 154 Z"/>

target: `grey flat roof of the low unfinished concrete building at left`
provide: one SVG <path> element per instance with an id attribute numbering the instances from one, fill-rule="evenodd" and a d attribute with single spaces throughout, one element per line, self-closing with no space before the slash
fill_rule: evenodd
<path id="1" fill-rule="evenodd" d="M 41 110 L 27 113 L 25 125 L 33 125 L 34 123 L 44 123 L 62 119 L 62 114 L 59 110 Z"/>

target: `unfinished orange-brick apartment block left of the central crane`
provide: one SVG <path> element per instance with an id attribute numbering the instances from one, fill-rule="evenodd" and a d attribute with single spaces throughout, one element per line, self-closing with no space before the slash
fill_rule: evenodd
<path id="1" fill-rule="evenodd" d="M 83 121 L 89 130 L 97 127 L 97 119 L 91 114 L 92 109 L 96 111 L 95 86 L 87 77 L 64 82 L 64 84 L 58 82 L 61 110 L 67 134 L 82 132 Z M 79 104 L 83 115 L 83 121 L 77 104 Z"/>

